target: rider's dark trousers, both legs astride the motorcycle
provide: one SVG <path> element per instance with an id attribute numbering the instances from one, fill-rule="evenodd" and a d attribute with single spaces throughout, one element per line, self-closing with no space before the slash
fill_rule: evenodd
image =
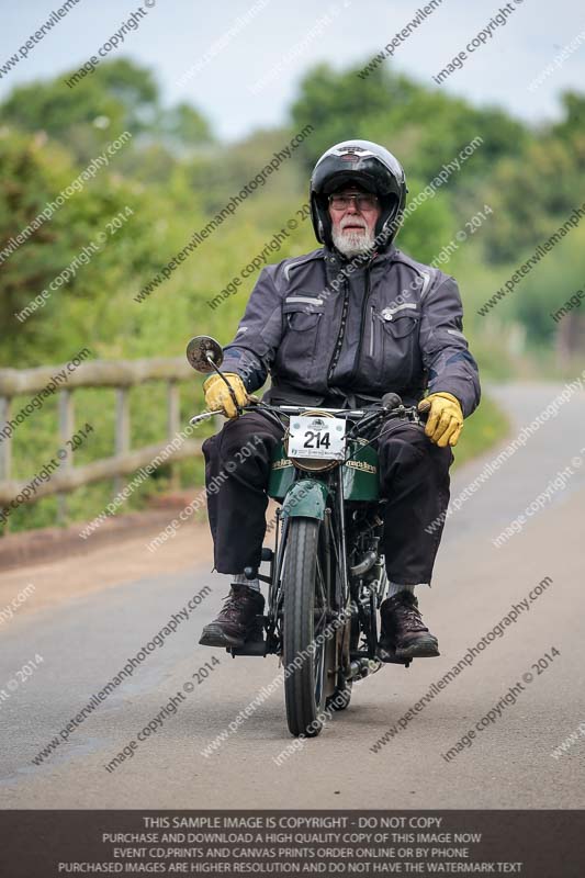
<path id="1" fill-rule="evenodd" d="M 258 567 L 266 532 L 267 485 L 282 428 L 255 412 L 228 420 L 203 442 L 215 569 Z M 244 455 L 243 451 L 249 453 Z M 416 424 L 391 421 L 378 440 L 387 576 L 401 585 L 430 583 L 449 505 L 450 448 L 438 448 Z M 426 528 L 437 521 L 431 533 Z M 430 529 L 430 528 L 429 528 Z"/>

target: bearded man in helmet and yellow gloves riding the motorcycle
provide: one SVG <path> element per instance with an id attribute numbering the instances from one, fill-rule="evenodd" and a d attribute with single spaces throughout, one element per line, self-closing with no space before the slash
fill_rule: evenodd
<path id="1" fill-rule="evenodd" d="M 428 412 L 425 428 L 393 421 L 378 440 L 389 577 L 381 646 L 404 660 L 439 655 L 414 589 L 430 585 L 451 448 L 480 402 L 455 281 L 393 244 L 406 192 L 404 171 L 384 147 L 345 140 L 328 149 L 311 178 L 313 227 L 324 246 L 262 270 L 223 362 L 239 405 L 270 373 L 263 398 L 274 405 L 359 407 L 392 391 Z M 244 570 L 260 564 L 271 455 L 282 428 L 254 412 L 236 417 L 220 375 L 203 387 L 207 407 L 229 418 L 203 452 L 206 483 L 222 474 L 207 504 L 215 569 L 233 583 L 200 643 L 241 646 L 263 611 L 259 581 Z M 226 468 L 252 436 L 254 453 Z M 427 532 L 431 522 L 438 526 Z"/>

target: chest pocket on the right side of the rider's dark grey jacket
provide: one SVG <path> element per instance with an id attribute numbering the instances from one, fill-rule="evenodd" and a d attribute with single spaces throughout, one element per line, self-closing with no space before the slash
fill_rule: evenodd
<path id="1" fill-rule="evenodd" d="M 417 305 L 379 308 L 370 305 L 370 357 L 379 363 L 384 376 L 406 378 L 413 369 L 418 346 Z"/>

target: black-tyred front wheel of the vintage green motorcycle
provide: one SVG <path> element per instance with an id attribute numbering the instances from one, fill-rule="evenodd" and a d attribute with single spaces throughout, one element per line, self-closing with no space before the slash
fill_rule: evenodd
<path id="1" fill-rule="evenodd" d="M 319 553 L 322 522 L 291 518 L 283 571 L 283 663 L 286 721 L 291 734 L 314 738 L 323 728 L 327 680 L 328 599 Z"/>

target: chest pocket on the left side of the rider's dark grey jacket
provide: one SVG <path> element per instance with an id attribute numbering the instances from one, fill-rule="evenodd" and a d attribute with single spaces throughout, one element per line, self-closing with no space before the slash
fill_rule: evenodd
<path id="1" fill-rule="evenodd" d="M 284 336 L 280 353 L 288 372 L 306 378 L 315 352 L 323 323 L 323 299 L 291 295 L 282 305 Z"/>

